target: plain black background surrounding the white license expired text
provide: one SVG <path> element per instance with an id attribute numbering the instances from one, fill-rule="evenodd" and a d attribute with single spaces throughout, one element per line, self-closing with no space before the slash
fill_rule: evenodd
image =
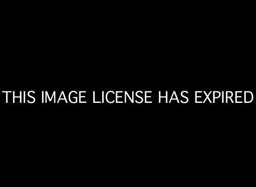
<path id="1" fill-rule="evenodd" d="M 255 94 L 247 7 L 42 7 L 3 13 L 1 91 L 152 90 L 154 104 L 2 102 L 5 176 L 131 184 L 250 178 L 255 101 L 196 105 L 193 96 Z M 187 105 L 157 104 L 157 91 L 183 90 Z"/>

